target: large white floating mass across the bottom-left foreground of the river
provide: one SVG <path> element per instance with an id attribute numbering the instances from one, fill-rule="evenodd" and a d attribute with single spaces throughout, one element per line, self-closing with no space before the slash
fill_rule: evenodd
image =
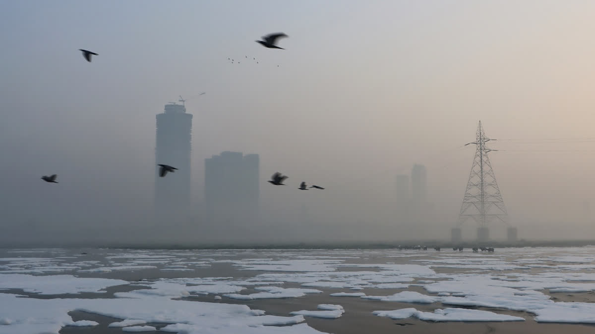
<path id="1" fill-rule="evenodd" d="M 307 325 L 296 329 L 270 327 L 303 322 L 303 316 L 265 316 L 264 311 L 250 310 L 246 305 L 203 303 L 198 301 L 170 300 L 168 298 L 92 298 L 50 299 L 20 298 L 14 294 L 0 294 L 0 314 L 5 324 L 2 334 L 58 333 L 61 327 L 74 323 L 68 312 L 84 311 L 117 319 L 143 320 L 147 323 L 170 323 L 164 332 L 188 333 L 318 333 Z M 169 328 L 167 328 L 169 327 Z M 124 327 L 127 328 L 127 327 Z M 176 330 L 180 329 L 180 330 Z M 300 331 L 301 330 L 301 331 Z"/>

